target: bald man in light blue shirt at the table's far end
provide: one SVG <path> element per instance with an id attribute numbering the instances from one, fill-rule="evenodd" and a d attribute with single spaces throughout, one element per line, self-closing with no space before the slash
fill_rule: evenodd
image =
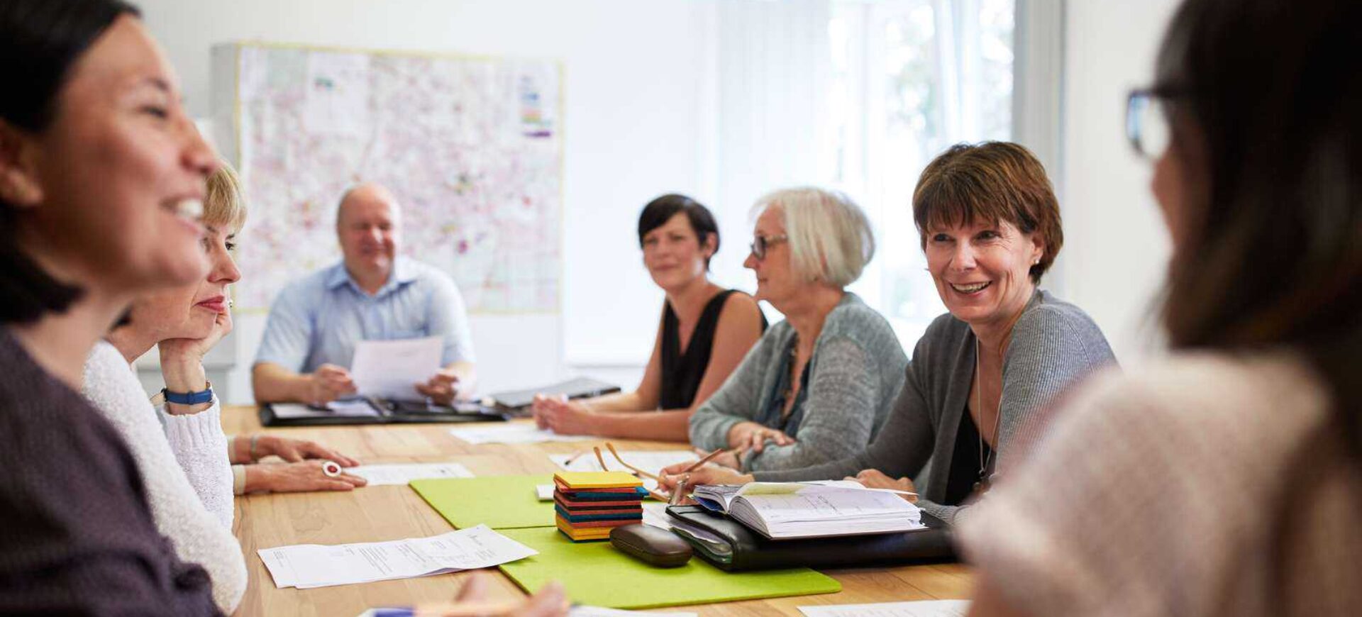
<path id="1" fill-rule="evenodd" d="M 347 370 L 355 343 L 421 336 L 444 336 L 444 368 L 417 390 L 444 405 L 469 398 L 475 372 L 463 297 L 444 272 L 396 256 L 392 193 L 377 184 L 347 191 L 336 233 L 345 259 L 289 283 L 270 309 L 251 370 L 256 400 L 326 403 L 355 394 Z"/>

